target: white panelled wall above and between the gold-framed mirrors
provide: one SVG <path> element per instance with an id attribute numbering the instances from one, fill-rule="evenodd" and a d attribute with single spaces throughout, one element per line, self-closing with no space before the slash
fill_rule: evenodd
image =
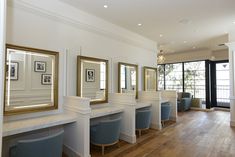
<path id="1" fill-rule="evenodd" d="M 76 95 L 77 55 L 109 60 L 109 92 L 117 92 L 119 61 L 139 64 L 140 90 L 142 66 L 156 66 L 156 43 L 126 29 L 58 0 L 8 2 L 7 43 L 60 52 L 60 109 L 63 95 Z"/>

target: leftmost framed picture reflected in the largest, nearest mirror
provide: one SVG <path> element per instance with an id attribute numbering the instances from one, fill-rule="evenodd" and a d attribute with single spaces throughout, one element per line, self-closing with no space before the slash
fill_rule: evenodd
<path id="1" fill-rule="evenodd" d="M 9 65 L 9 62 L 6 64 L 6 79 L 10 80 L 18 80 L 18 74 L 19 74 L 19 63 L 18 62 L 11 62 Z"/>

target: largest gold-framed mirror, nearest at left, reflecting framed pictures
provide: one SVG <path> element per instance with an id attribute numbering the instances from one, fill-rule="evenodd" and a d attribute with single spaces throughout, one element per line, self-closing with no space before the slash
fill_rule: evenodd
<path id="1" fill-rule="evenodd" d="M 6 45 L 4 115 L 58 108 L 59 53 Z"/>

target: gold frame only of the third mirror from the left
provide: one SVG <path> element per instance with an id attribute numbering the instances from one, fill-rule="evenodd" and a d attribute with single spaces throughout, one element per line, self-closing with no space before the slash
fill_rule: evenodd
<path id="1" fill-rule="evenodd" d="M 118 62 L 118 93 L 121 93 L 121 65 L 135 67 L 135 69 L 136 69 L 136 96 L 135 96 L 135 98 L 138 99 L 138 84 L 139 84 L 138 65 L 137 64 L 124 63 L 124 62 Z"/>

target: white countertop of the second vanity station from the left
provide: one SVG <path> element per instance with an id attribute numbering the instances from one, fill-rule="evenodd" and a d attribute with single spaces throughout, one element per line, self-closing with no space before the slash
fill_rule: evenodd
<path id="1" fill-rule="evenodd" d="M 107 116 L 115 113 L 123 112 L 124 108 L 120 106 L 106 105 L 101 107 L 94 107 L 91 109 L 90 118 L 97 118 Z"/>

